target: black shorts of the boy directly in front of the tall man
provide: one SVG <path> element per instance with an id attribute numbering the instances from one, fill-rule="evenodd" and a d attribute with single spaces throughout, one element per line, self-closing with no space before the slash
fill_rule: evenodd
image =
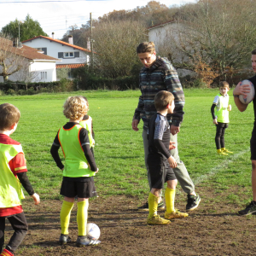
<path id="1" fill-rule="evenodd" d="M 151 188 L 164 189 L 164 184 L 168 180 L 176 179 L 167 160 L 148 154 L 147 163 L 151 180 Z"/>

